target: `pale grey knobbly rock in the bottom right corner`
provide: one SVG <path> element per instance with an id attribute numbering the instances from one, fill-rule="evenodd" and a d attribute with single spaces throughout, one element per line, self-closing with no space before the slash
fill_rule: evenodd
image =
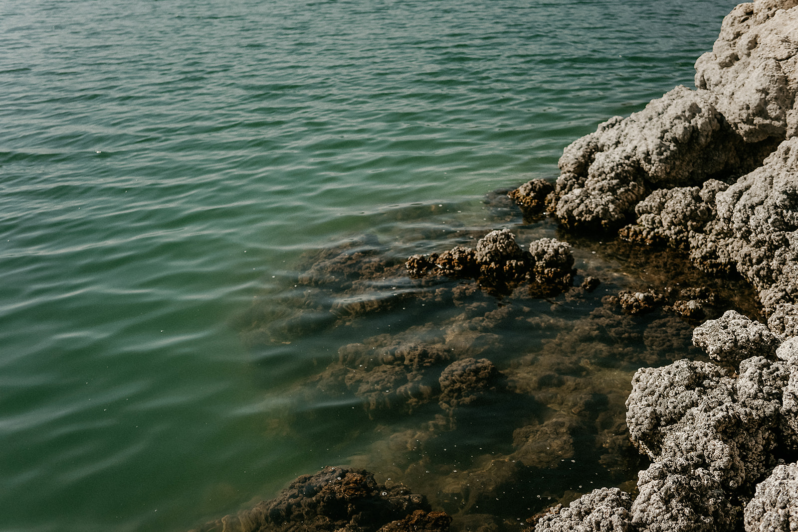
<path id="1" fill-rule="evenodd" d="M 776 466 L 745 506 L 745 532 L 790 532 L 798 523 L 798 464 Z"/>

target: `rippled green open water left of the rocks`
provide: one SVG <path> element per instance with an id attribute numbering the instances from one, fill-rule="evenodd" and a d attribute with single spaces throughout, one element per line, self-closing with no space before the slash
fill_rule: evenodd
<path id="1" fill-rule="evenodd" d="M 0 2 L 0 530 L 185 530 L 369 464 L 291 399 L 349 333 L 237 316 L 310 249 L 507 226 L 484 194 L 692 86 L 734 3 Z"/>

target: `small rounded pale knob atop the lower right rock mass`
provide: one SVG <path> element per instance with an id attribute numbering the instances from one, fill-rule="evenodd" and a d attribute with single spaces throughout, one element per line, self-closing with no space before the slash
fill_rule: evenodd
<path id="1" fill-rule="evenodd" d="M 779 343 L 768 327 L 737 311 L 726 311 L 721 318 L 709 319 L 693 331 L 693 345 L 725 366 L 740 366 L 753 356 L 773 358 Z"/>

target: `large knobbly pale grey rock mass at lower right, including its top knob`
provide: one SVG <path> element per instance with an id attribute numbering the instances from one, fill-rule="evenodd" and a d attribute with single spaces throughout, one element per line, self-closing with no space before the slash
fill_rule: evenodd
<path id="1" fill-rule="evenodd" d="M 774 453 L 798 433 L 789 402 L 798 342 L 779 346 L 766 327 L 733 311 L 693 338 L 713 358 L 747 358 L 737 377 L 690 360 L 634 375 L 626 423 L 632 442 L 654 460 L 639 475 L 630 510 L 638 530 L 734 529 L 753 486 L 776 465 Z"/>

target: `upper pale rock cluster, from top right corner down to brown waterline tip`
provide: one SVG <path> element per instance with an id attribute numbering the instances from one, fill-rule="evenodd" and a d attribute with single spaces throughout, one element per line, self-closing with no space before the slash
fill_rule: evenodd
<path id="1" fill-rule="evenodd" d="M 696 90 L 677 87 L 563 151 L 554 190 L 511 196 L 570 229 L 683 248 L 709 272 L 739 272 L 768 326 L 798 334 L 798 9 L 740 4 Z"/>

